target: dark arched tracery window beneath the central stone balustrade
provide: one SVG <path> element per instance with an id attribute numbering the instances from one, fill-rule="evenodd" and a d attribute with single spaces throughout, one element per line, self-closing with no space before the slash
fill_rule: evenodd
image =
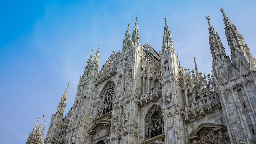
<path id="1" fill-rule="evenodd" d="M 150 137 L 154 137 L 163 133 L 163 121 L 162 114 L 156 110 L 150 117 Z"/>

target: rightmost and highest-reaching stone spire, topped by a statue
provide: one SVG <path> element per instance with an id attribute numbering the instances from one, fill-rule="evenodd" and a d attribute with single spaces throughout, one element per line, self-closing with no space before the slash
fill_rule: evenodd
<path id="1" fill-rule="evenodd" d="M 231 49 L 231 60 L 234 68 L 238 71 L 245 67 L 251 67 L 251 70 L 255 69 L 256 62 L 252 57 L 250 49 L 244 41 L 244 38 L 241 34 L 239 34 L 236 26 L 231 23 L 231 20 L 226 16 L 224 9 L 221 7 L 220 11 L 223 14 L 223 21 L 225 24 L 225 34 L 227 37 L 228 45 Z M 243 63 L 244 68 L 240 64 Z M 253 68 L 252 68 L 253 67 Z"/>

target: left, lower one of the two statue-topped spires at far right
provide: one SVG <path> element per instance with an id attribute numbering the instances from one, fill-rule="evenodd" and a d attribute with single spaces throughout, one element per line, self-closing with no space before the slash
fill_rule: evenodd
<path id="1" fill-rule="evenodd" d="M 213 58 L 213 62 L 216 63 L 216 57 L 220 58 L 224 61 L 224 58 L 227 58 L 224 47 L 221 43 L 220 37 L 218 33 L 215 33 L 213 26 L 210 23 L 210 17 L 206 17 L 209 24 L 209 44 L 211 49 L 211 54 Z"/>

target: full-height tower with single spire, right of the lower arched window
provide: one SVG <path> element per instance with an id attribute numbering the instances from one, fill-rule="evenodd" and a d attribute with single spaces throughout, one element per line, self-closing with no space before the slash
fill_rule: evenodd
<path id="1" fill-rule="evenodd" d="M 183 137 L 185 131 L 183 129 L 183 118 L 177 113 L 183 107 L 183 93 L 181 87 L 178 85 L 179 62 L 178 53 L 175 52 L 173 47 L 172 34 L 167 25 L 166 17 L 164 26 L 164 35 L 162 43 L 162 57 L 161 57 L 161 84 L 162 84 L 162 101 L 163 101 L 163 114 L 166 116 L 164 121 L 165 141 L 172 143 L 185 143 Z M 170 115 L 167 117 L 167 115 Z M 173 125 L 169 125 L 173 123 Z"/>

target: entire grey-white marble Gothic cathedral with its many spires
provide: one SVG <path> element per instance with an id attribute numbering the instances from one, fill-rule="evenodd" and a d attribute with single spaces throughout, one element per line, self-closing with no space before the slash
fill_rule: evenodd
<path id="1" fill-rule="evenodd" d="M 195 58 L 195 70 L 180 65 L 166 18 L 162 51 L 141 45 L 138 18 L 101 69 L 100 45 L 95 56 L 92 49 L 73 107 L 63 116 L 68 83 L 44 144 L 254 144 L 256 60 L 221 12 L 231 55 L 206 17 L 212 75 L 199 72 Z M 36 127 L 26 144 L 42 143 L 42 122 Z"/>

